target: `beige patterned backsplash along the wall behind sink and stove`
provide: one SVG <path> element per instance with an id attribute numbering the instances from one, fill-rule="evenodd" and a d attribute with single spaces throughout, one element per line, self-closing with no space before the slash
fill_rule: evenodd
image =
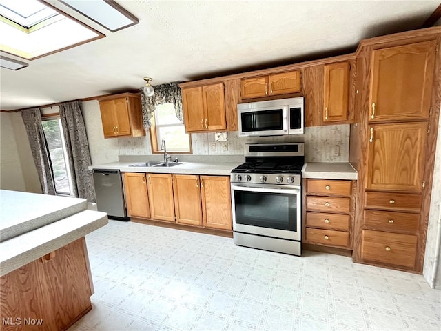
<path id="1" fill-rule="evenodd" d="M 194 155 L 243 155 L 245 143 L 284 143 L 305 142 L 305 160 L 307 162 L 347 162 L 349 160 L 349 124 L 340 126 L 314 126 L 305 128 L 305 134 L 276 137 L 238 137 L 238 132 L 228 132 L 228 150 L 223 150 L 225 143 L 214 141 L 214 133 L 192 134 Z M 152 154 L 150 137 L 118 139 L 120 155 Z M 216 150 L 212 150 L 212 143 Z M 340 154 L 334 156 L 338 147 Z"/>

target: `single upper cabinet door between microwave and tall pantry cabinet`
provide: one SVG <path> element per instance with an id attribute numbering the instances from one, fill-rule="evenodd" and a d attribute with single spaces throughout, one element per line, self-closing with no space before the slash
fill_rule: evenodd
<path id="1" fill-rule="evenodd" d="M 346 121 L 349 93 L 349 63 L 325 66 L 323 121 Z"/>

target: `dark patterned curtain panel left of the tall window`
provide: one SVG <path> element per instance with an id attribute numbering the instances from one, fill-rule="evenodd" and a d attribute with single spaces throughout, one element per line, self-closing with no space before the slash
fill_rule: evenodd
<path id="1" fill-rule="evenodd" d="M 39 174 L 41 190 L 44 194 L 55 195 L 54 175 L 50 163 L 48 143 L 41 124 L 40 108 L 21 110 L 21 118 L 28 134 L 30 150 Z"/>

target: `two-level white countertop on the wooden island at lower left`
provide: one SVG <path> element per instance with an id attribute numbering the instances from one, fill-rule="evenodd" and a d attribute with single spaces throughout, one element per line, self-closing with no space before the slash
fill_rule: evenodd
<path id="1" fill-rule="evenodd" d="M 21 234 L 0 243 L 0 276 L 106 225 L 107 214 L 83 210 L 84 201 L 84 199 L 1 190 L 0 224 L 9 231 L 17 225 Z M 32 210 L 30 206 L 36 209 Z M 75 210 L 78 211 L 74 212 Z M 45 219 L 45 215 L 48 219 Z M 45 223 L 48 220 L 50 222 Z M 3 226 L 3 224 L 11 226 Z M 28 231 L 23 233 L 23 227 Z"/>

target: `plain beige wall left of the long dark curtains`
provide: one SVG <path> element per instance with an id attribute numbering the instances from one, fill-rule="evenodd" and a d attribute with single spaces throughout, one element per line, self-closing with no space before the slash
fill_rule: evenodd
<path id="1" fill-rule="evenodd" d="M 0 113 L 0 188 L 41 193 L 20 113 Z"/>

